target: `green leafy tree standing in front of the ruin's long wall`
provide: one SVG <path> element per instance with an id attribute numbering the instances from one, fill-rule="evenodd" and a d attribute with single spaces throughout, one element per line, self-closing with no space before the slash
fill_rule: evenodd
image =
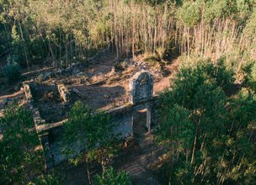
<path id="1" fill-rule="evenodd" d="M 77 161 L 73 159 L 77 155 L 76 145 L 85 149 L 86 161 L 99 161 L 104 168 L 118 149 L 114 127 L 107 114 L 93 113 L 85 104 L 76 102 L 63 126 L 63 152 L 72 161 Z M 81 157 L 78 156 L 78 161 Z"/>

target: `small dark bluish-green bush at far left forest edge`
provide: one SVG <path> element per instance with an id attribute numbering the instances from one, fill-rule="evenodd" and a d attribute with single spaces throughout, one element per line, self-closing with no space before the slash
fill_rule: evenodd
<path id="1" fill-rule="evenodd" d="M 20 77 L 19 65 L 15 61 L 14 56 L 8 57 L 8 65 L 4 67 L 4 77 L 8 82 L 16 82 Z"/>

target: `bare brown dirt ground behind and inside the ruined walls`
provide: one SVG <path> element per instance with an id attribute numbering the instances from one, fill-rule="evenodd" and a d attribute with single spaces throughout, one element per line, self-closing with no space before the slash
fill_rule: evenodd
<path id="1" fill-rule="evenodd" d="M 35 86 L 32 86 L 31 91 L 35 98 L 35 107 L 40 109 L 40 115 L 47 124 L 53 124 L 67 119 L 69 109 L 77 100 L 99 110 L 116 108 L 129 103 L 129 81 L 137 71 L 152 72 L 154 95 L 157 95 L 169 87 L 170 78 L 178 66 L 177 61 L 169 62 L 159 71 L 155 66 L 145 62 L 131 61 L 130 66 L 124 71 L 113 72 L 112 67 L 115 62 L 115 58 L 109 57 L 108 60 L 99 61 L 94 65 L 75 66 L 72 71 L 52 75 L 45 80 L 42 79 L 44 76 L 42 74 L 51 72 L 51 68 L 25 72 L 23 76 L 26 80 L 29 80 L 29 77 L 34 80 Z M 71 93 L 70 102 L 66 104 L 61 102 L 56 88 L 56 85 L 61 83 Z M 19 83 L 14 86 L 16 89 L 19 87 L 21 87 Z M 9 87 L 8 93 L 10 92 L 13 92 L 13 87 Z"/>

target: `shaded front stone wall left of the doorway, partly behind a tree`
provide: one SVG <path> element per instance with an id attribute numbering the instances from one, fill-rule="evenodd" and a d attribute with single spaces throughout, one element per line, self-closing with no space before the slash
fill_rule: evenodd
<path id="1" fill-rule="evenodd" d="M 132 105 L 127 105 L 120 108 L 113 108 L 106 112 L 106 114 L 110 115 L 111 121 L 115 123 L 114 131 L 116 134 L 120 134 L 120 138 L 131 136 L 132 111 Z M 61 152 L 61 130 L 62 124 L 65 124 L 66 121 L 67 119 L 60 123 L 51 124 L 49 127 L 46 124 L 38 127 L 38 129 L 47 133 L 46 135 L 41 135 L 45 151 L 47 151 L 47 155 L 45 155 L 47 169 L 51 169 L 52 166 L 56 166 L 61 161 L 67 160 L 67 156 Z M 85 144 L 74 144 L 73 150 L 78 155 L 85 148 Z"/>

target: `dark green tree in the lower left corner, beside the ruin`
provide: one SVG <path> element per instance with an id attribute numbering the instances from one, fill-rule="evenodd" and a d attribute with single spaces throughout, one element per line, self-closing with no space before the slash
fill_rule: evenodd
<path id="1" fill-rule="evenodd" d="M 24 184 L 43 174 L 43 151 L 31 113 L 13 105 L 0 119 L 0 127 L 0 183 Z"/>

